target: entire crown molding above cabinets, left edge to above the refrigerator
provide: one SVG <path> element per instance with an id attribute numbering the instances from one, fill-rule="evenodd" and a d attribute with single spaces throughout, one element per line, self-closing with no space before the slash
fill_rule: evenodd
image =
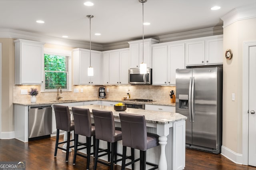
<path id="1" fill-rule="evenodd" d="M 205 29 L 188 31 L 188 32 L 181 32 L 176 34 L 168 34 L 164 36 L 147 37 L 147 38 L 153 38 L 153 39 L 159 40 L 159 43 L 163 43 L 163 42 L 172 42 L 172 41 L 178 41 L 178 40 L 186 40 L 191 38 L 214 36 L 214 35 L 220 35 L 220 34 L 223 34 L 222 26 L 205 28 Z M 40 34 L 35 34 L 30 32 L 12 30 L 12 29 L 0 29 L 0 38 L 25 39 L 25 40 L 33 40 L 33 41 L 54 44 L 54 45 L 64 45 L 64 46 L 74 47 L 74 48 L 90 49 L 89 42 L 68 40 L 64 38 L 56 38 L 52 36 L 40 35 Z M 92 49 L 96 51 L 107 51 L 112 49 L 127 48 L 129 47 L 128 42 L 130 41 L 132 40 L 117 42 L 117 43 L 110 43 L 110 44 L 92 43 Z"/>

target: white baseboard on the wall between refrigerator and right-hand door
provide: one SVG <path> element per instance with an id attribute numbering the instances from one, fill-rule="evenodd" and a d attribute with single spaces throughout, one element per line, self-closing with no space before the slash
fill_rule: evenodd
<path id="1" fill-rule="evenodd" d="M 238 153 L 230 150 L 229 148 L 226 148 L 223 145 L 221 146 L 221 154 L 223 156 L 225 156 L 226 158 L 228 158 L 229 160 L 231 160 L 232 162 L 234 162 L 235 164 L 242 165 L 242 163 L 243 163 L 243 155 L 242 154 L 238 154 Z"/>

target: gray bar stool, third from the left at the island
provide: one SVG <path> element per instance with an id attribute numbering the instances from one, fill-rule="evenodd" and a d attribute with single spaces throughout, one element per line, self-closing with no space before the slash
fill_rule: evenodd
<path id="1" fill-rule="evenodd" d="M 92 114 L 94 118 L 95 125 L 95 137 L 96 137 L 96 148 L 95 148 L 95 162 L 94 162 L 94 170 L 97 168 L 97 163 L 101 163 L 107 166 L 110 166 L 110 170 L 113 170 L 114 163 L 122 160 L 116 160 L 116 155 L 122 156 L 122 154 L 118 154 L 116 151 L 117 141 L 122 140 L 122 132 L 115 128 L 115 122 L 112 111 L 102 111 L 92 109 Z M 99 153 L 99 140 L 104 140 L 111 143 L 111 150 L 104 150 L 104 154 L 98 155 Z M 101 151 L 102 152 L 102 151 Z M 98 160 L 99 157 L 110 154 L 110 164 Z"/>

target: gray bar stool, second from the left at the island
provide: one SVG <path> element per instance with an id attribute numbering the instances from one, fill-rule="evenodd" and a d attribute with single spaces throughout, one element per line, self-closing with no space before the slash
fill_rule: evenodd
<path id="1" fill-rule="evenodd" d="M 89 109 L 83 109 L 79 107 L 72 107 L 72 113 L 74 116 L 74 123 L 75 123 L 75 148 L 74 148 L 74 159 L 73 165 L 76 164 L 76 155 L 82 156 L 83 158 L 87 158 L 87 165 L 86 169 L 89 169 L 90 164 L 90 155 L 94 154 L 91 153 L 91 147 L 93 146 L 93 150 L 95 150 L 95 144 L 91 145 L 91 137 L 93 136 L 93 141 L 95 141 L 95 127 L 92 126 L 91 122 L 91 114 Z M 86 136 L 86 147 L 78 148 L 78 146 L 84 145 L 78 144 L 78 134 Z M 78 153 L 78 150 L 82 150 L 86 148 L 87 156 Z"/>

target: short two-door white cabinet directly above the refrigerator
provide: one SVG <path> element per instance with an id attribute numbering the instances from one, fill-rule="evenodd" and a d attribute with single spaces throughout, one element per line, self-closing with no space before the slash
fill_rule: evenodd
<path id="1" fill-rule="evenodd" d="M 186 65 L 223 63 L 223 36 L 195 38 L 186 42 Z"/>

